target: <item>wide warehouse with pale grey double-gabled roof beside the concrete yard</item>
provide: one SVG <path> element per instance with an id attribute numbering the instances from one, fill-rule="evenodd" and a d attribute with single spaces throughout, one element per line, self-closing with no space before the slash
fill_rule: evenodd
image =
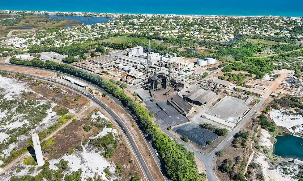
<path id="1" fill-rule="evenodd" d="M 189 90 L 188 90 L 189 91 Z M 189 94 L 185 95 L 185 100 L 201 106 L 211 101 L 217 94 L 212 91 L 207 91 L 201 88 L 192 90 Z"/>

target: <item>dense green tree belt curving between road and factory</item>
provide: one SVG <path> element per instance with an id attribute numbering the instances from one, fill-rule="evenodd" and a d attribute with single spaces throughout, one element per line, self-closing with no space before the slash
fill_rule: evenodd
<path id="1" fill-rule="evenodd" d="M 10 62 L 13 64 L 35 66 L 65 72 L 99 85 L 109 94 L 117 97 L 137 116 L 138 124 L 140 124 L 144 128 L 144 131 L 151 137 L 153 144 L 164 160 L 165 170 L 172 180 L 202 180 L 202 177 L 197 171 L 194 153 L 189 151 L 183 144 L 177 143 L 177 141 L 170 139 L 168 135 L 164 134 L 160 128 L 153 123 L 148 111 L 113 83 L 106 81 L 98 75 L 90 74 L 84 70 L 52 61 L 28 61 L 11 58 Z"/>

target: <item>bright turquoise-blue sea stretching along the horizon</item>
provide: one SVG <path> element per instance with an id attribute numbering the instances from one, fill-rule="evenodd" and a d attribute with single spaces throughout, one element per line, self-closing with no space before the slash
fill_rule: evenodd
<path id="1" fill-rule="evenodd" d="M 1 10 L 303 17 L 302 0 L 1 0 Z"/>

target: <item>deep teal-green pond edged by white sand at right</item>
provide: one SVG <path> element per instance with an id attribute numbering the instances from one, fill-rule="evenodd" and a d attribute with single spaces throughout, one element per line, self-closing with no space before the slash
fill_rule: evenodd
<path id="1" fill-rule="evenodd" d="M 303 160 L 303 138 L 293 135 L 277 136 L 274 145 L 274 154 L 285 158 Z"/>

